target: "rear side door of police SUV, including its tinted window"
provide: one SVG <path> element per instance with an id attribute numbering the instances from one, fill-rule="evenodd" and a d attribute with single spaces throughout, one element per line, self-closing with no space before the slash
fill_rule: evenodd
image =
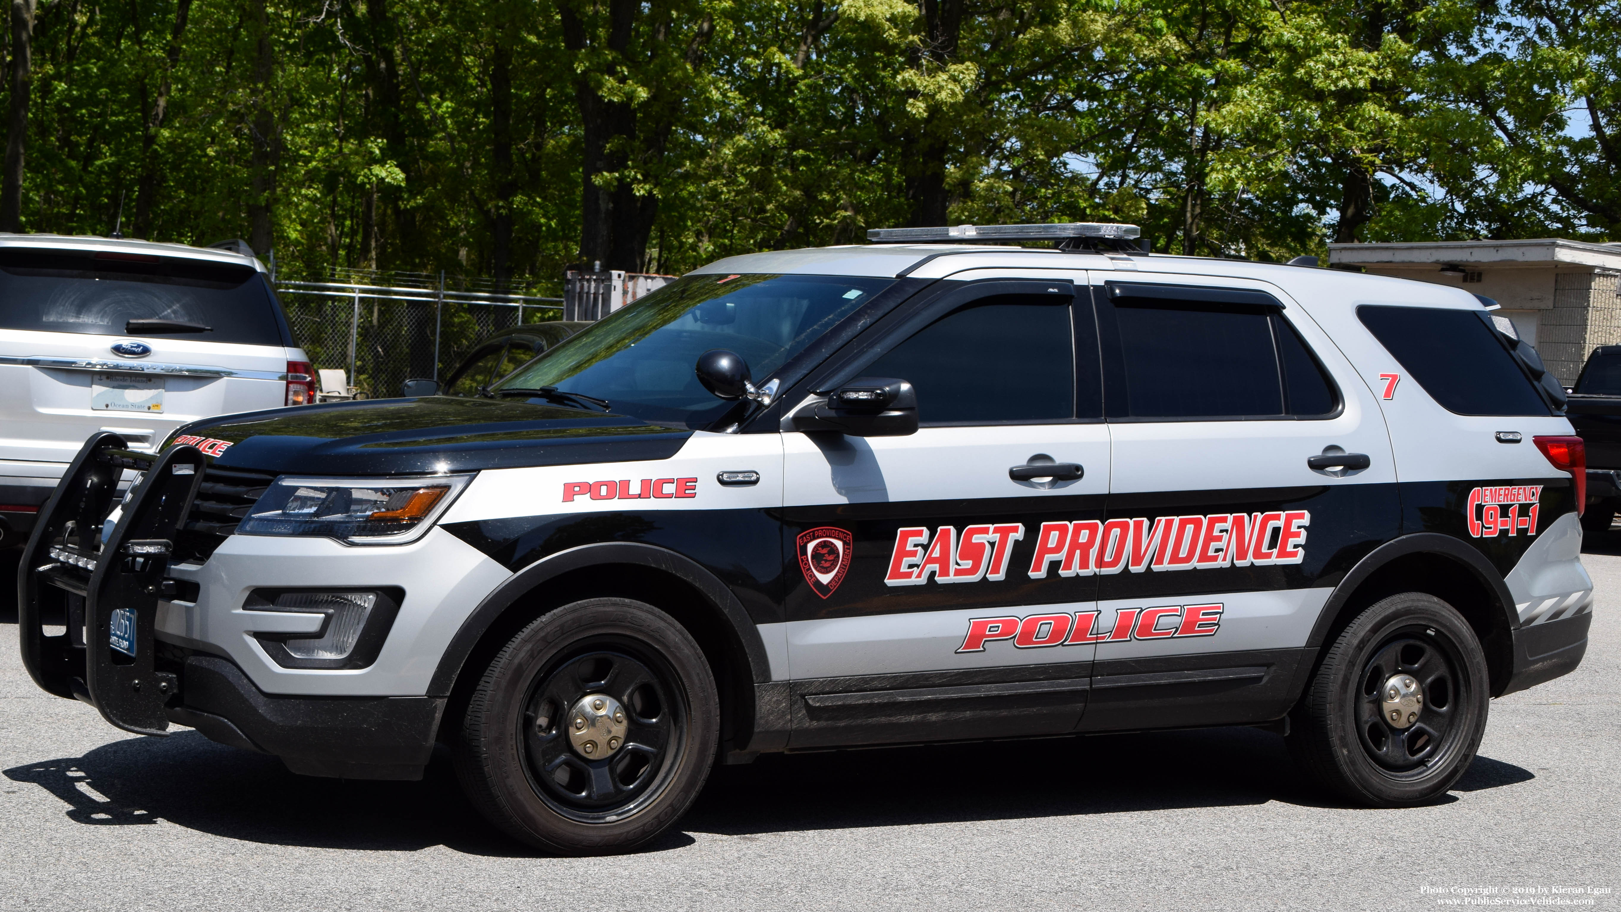
<path id="1" fill-rule="evenodd" d="M 1094 274 L 1114 446 L 1086 730 L 1276 719 L 1399 526 L 1371 391 L 1260 282 Z"/>

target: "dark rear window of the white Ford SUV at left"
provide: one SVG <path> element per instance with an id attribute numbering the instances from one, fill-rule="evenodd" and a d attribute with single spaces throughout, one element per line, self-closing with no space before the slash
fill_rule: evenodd
<path id="1" fill-rule="evenodd" d="M 280 346 L 251 266 L 136 253 L 0 248 L 0 328 Z"/>

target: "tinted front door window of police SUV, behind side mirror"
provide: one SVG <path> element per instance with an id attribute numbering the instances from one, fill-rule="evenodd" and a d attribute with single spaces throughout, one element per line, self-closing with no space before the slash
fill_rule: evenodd
<path id="1" fill-rule="evenodd" d="M 895 346 L 862 373 L 911 381 L 922 424 L 1073 417 L 1070 300 L 1005 295 L 974 302 Z"/>

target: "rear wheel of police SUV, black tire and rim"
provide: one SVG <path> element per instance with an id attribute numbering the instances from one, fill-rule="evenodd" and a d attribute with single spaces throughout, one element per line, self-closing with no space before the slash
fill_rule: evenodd
<path id="1" fill-rule="evenodd" d="M 1389 686 L 1417 682 L 1417 706 Z M 1329 647 L 1290 714 L 1289 750 L 1307 774 L 1365 807 L 1430 802 L 1469 769 L 1486 730 L 1490 685 L 1469 622 L 1435 596 L 1371 605 Z"/>

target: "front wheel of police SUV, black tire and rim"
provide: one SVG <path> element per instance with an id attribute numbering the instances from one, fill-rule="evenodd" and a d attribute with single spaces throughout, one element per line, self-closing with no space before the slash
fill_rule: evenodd
<path id="1" fill-rule="evenodd" d="M 718 740 L 715 678 L 692 636 L 652 605 L 587 599 L 545 613 L 496 654 L 454 758 L 490 823 L 546 852 L 600 855 L 674 824 L 704 789 Z"/>

